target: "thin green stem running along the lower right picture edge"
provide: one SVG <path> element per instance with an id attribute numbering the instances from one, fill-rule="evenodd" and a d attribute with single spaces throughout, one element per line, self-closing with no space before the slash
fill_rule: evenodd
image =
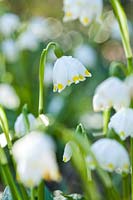
<path id="1" fill-rule="evenodd" d="M 130 151 L 131 151 L 131 200 L 133 200 L 133 138 L 130 138 Z"/>

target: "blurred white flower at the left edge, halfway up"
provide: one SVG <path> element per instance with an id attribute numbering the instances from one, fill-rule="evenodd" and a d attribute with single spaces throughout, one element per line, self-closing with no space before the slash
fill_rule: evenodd
<path id="1" fill-rule="evenodd" d="M 6 83 L 0 84 L 0 104 L 8 109 L 16 109 L 19 107 L 19 97 L 11 85 Z"/>

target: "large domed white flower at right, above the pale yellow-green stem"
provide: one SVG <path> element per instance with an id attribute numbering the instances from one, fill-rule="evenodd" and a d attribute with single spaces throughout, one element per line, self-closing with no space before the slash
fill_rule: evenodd
<path id="1" fill-rule="evenodd" d="M 116 77 L 103 81 L 97 88 L 93 97 L 95 111 L 103 111 L 113 107 L 116 111 L 122 107 L 128 107 L 130 95 L 124 82 Z"/>

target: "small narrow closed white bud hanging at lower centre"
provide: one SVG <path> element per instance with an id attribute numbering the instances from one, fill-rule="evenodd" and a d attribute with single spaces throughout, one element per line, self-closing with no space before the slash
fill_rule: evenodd
<path id="1" fill-rule="evenodd" d="M 65 145 L 64 153 L 63 153 L 63 161 L 68 162 L 72 157 L 72 148 L 71 148 L 71 142 L 68 142 Z"/>

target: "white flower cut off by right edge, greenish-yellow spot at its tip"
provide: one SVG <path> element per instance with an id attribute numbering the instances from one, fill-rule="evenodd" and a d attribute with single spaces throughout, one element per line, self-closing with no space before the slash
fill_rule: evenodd
<path id="1" fill-rule="evenodd" d="M 113 128 L 122 140 L 128 136 L 133 137 L 133 109 L 123 108 L 115 113 L 111 117 L 109 128 Z"/>

